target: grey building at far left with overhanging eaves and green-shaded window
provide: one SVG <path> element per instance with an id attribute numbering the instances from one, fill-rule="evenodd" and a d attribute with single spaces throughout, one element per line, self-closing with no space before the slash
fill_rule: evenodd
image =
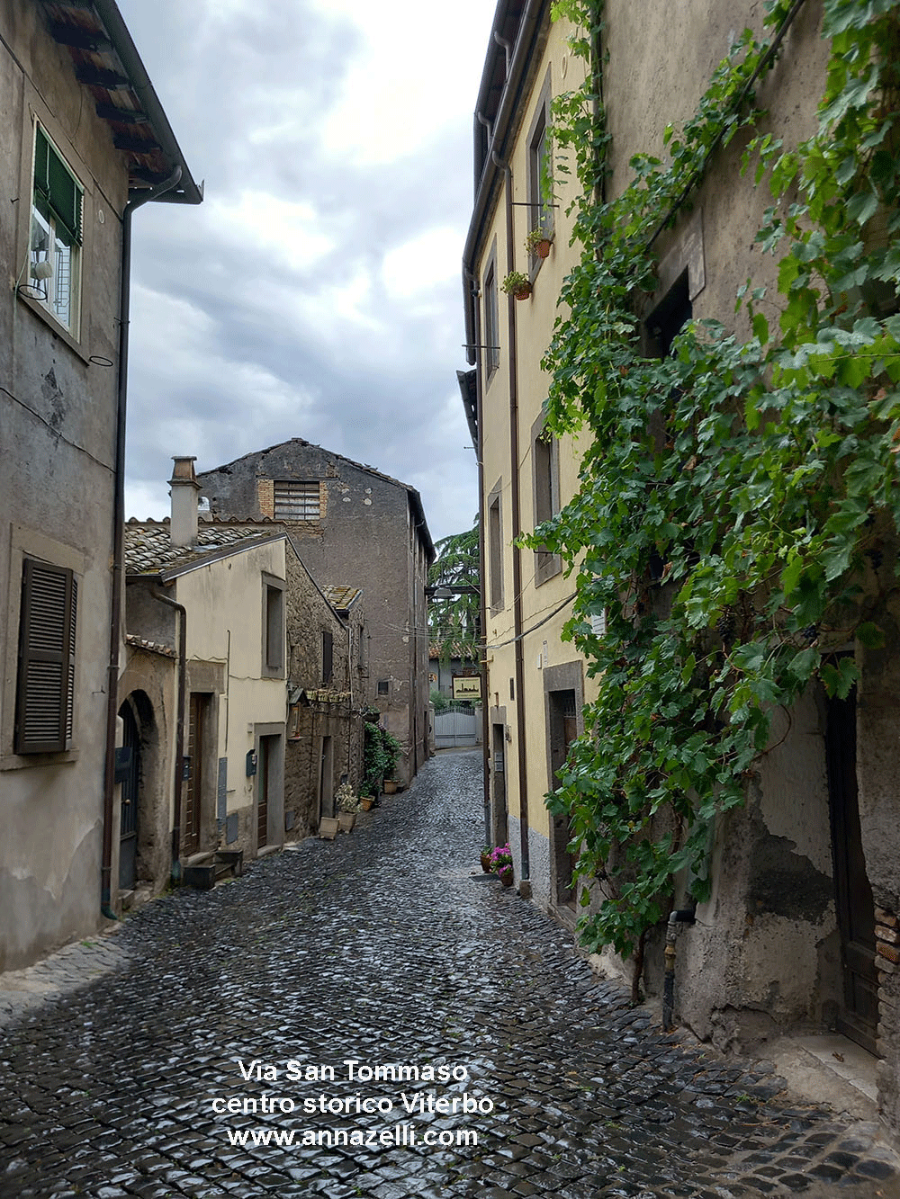
<path id="1" fill-rule="evenodd" d="M 202 195 L 112 0 L 6 0 L 0 110 L 4 970 L 110 910 L 132 213 Z"/>

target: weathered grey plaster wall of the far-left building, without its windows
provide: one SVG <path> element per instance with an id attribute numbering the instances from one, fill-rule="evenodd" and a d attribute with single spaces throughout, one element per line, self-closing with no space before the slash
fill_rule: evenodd
<path id="1" fill-rule="evenodd" d="M 8 183 L 0 205 L 0 970 L 101 921 L 115 370 L 89 359 L 116 356 L 127 179 L 89 101 L 68 53 L 48 36 L 41 6 L 0 6 L 0 177 Z M 28 253 L 35 120 L 84 187 L 77 336 L 14 290 Z M 67 753 L 12 753 L 24 558 L 70 567 L 78 582 Z"/>

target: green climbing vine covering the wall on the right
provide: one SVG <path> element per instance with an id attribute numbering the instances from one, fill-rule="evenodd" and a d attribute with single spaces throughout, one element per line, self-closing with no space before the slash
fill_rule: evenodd
<path id="1" fill-rule="evenodd" d="M 554 113 L 581 258 L 545 359 L 548 421 L 590 438 L 577 494 L 532 543 L 577 574 L 566 635 L 599 686 L 547 800 L 601 897 L 582 890 L 592 948 L 634 952 L 682 872 L 709 894 L 714 820 L 744 802 L 811 680 L 848 694 L 856 664 L 839 649 L 883 644 L 896 588 L 900 6 L 824 0 L 818 129 L 784 146 L 754 92 L 798 7 L 767 5 L 767 36 L 737 40 L 694 118 L 666 131 L 666 161 L 637 156 L 607 199 L 601 5 L 554 5 L 589 70 Z M 772 193 L 757 242 L 778 258 L 778 294 L 740 289 L 744 338 L 698 320 L 646 357 L 659 234 L 736 138 L 745 186 Z"/>

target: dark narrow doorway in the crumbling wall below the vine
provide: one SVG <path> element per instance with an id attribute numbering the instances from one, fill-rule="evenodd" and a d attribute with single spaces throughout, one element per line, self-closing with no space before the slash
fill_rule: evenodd
<path id="1" fill-rule="evenodd" d="M 856 688 L 846 699 L 828 700 L 826 758 L 834 900 L 844 971 L 838 1031 L 870 1053 L 876 1053 L 878 978 L 875 970 L 875 902 L 865 873 L 859 827 Z"/>

